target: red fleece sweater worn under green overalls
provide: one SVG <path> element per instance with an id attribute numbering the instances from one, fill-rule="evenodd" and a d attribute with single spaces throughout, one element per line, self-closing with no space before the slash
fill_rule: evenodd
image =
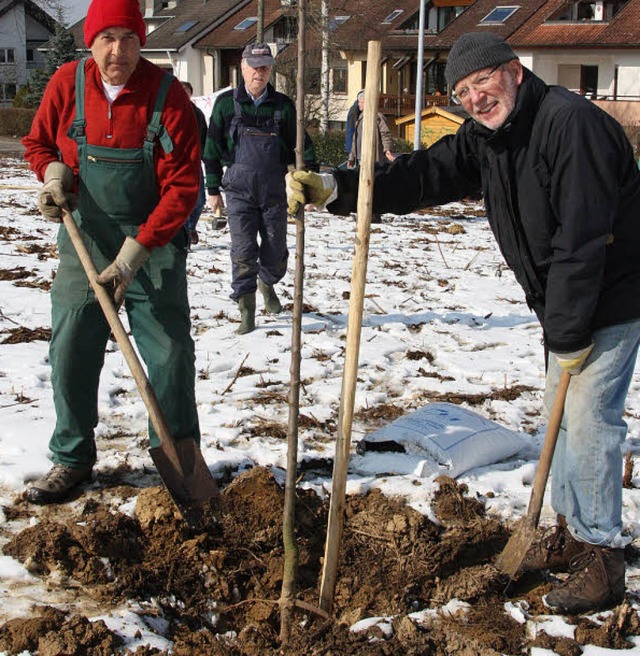
<path id="1" fill-rule="evenodd" d="M 24 158 L 41 181 L 47 165 L 59 159 L 58 152 L 62 161 L 78 175 L 77 145 L 67 137 L 76 115 L 77 66 L 78 62 L 64 64 L 53 75 L 31 131 L 22 140 L 26 147 Z M 95 61 L 89 59 L 85 88 L 87 142 L 94 146 L 139 148 L 163 74 L 162 69 L 141 57 L 109 112 L 100 72 Z M 173 239 L 196 203 L 200 184 L 198 128 L 189 98 L 177 80 L 169 88 L 161 122 L 173 141 L 173 151 L 167 155 L 159 144 L 155 147 L 160 200 L 137 236 L 148 249 L 164 246 Z"/>

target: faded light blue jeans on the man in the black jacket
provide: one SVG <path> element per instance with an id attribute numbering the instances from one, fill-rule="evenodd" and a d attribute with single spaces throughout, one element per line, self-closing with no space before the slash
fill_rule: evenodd
<path id="1" fill-rule="evenodd" d="M 621 548 L 622 419 L 640 344 L 640 320 L 600 328 L 583 370 L 572 376 L 551 466 L 551 505 L 572 535 L 602 547 Z M 560 379 L 549 357 L 547 416 Z"/>

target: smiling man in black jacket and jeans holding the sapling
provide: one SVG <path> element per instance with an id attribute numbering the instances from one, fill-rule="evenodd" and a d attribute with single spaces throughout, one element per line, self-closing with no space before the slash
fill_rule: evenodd
<path id="1" fill-rule="evenodd" d="M 557 526 L 521 569 L 569 573 L 543 598 L 552 609 L 611 607 L 624 599 L 631 539 L 621 447 L 640 343 L 640 172 L 611 116 L 545 84 L 495 34 L 461 36 L 445 76 L 470 118 L 428 150 L 378 166 L 373 209 L 406 214 L 482 188 L 500 250 L 542 325 L 547 413 L 561 372 L 571 375 L 551 471 Z M 296 171 L 287 184 L 290 211 L 356 205 L 353 171 Z"/>

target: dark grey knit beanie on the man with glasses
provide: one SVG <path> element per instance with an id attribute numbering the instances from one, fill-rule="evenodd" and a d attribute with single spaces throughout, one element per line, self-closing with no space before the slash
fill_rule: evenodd
<path id="1" fill-rule="evenodd" d="M 453 44 L 444 76 L 453 89 L 463 77 L 512 59 L 517 56 L 502 37 L 493 32 L 467 32 Z"/>

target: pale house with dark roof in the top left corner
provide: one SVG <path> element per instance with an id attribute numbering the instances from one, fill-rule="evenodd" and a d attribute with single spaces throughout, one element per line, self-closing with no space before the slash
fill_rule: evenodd
<path id="1" fill-rule="evenodd" d="M 55 32 L 56 21 L 32 0 L 0 0 L 0 106 L 11 105 L 31 71 L 44 66 L 38 48 Z"/>

